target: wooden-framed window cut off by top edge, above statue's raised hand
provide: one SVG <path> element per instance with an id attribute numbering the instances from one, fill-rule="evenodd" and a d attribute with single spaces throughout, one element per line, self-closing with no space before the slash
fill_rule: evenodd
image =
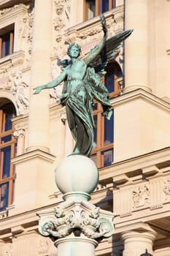
<path id="1" fill-rule="evenodd" d="M 85 0 L 85 20 L 115 8 L 115 0 Z"/>

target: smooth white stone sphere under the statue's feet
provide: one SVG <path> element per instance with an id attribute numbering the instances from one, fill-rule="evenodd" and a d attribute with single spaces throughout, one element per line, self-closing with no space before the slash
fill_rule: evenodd
<path id="1" fill-rule="evenodd" d="M 63 194 L 77 191 L 90 194 L 98 184 L 97 167 L 88 157 L 69 155 L 56 167 L 55 183 Z"/>

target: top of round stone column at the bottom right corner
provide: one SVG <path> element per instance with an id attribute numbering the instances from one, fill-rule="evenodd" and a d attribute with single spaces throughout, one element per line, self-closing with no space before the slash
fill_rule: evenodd
<path id="1" fill-rule="evenodd" d="M 142 255 L 147 249 L 152 254 L 152 244 L 156 233 L 154 231 L 134 231 L 129 230 L 122 233 L 124 241 L 123 256 Z"/>

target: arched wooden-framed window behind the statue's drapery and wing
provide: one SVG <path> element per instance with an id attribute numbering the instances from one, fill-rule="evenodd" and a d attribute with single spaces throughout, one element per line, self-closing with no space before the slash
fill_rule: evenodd
<path id="1" fill-rule="evenodd" d="M 122 78 L 122 71 L 116 62 L 107 65 L 106 75 L 103 83 L 109 91 L 109 98 L 117 97 L 120 94 L 120 84 L 117 78 Z M 102 116 L 101 104 L 95 102 L 93 110 L 96 128 L 94 129 L 94 146 L 91 153 L 91 159 L 97 167 L 111 165 L 114 162 L 114 114 L 108 121 Z"/>

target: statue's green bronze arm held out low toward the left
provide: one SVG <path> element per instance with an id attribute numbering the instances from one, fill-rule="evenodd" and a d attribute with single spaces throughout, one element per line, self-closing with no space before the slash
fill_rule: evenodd
<path id="1" fill-rule="evenodd" d="M 39 92 L 44 90 L 44 89 L 50 89 L 50 88 L 53 88 L 55 86 L 58 86 L 61 82 L 63 82 L 63 80 L 65 78 L 66 78 L 66 69 L 64 69 L 63 72 L 61 72 L 61 75 L 59 75 L 58 78 L 56 78 L 52 82 L 46 83 L 43 86 L 37 86 L 36 88 L 34 88 L 34 90 L 35 90 L 34 94 L 39 94 Z"/>

